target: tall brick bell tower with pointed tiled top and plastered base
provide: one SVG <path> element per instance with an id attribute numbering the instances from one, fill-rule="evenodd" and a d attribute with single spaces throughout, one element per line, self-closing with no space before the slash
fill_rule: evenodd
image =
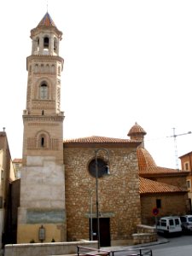
<path id="1" fill-rule="evenodd" d="M 49 13 L 31 31 L 32 55 L 26 58 L 18 243 L 66 241 L 61 35 Z"/>

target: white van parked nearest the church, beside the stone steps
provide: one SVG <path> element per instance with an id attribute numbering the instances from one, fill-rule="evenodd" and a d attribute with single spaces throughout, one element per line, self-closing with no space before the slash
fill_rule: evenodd
<path id="1" fill-rule="evenodd" d="M 181 219 L 177 216 L 160 218 L 156 228 L 158 233 L 163 233 L 164 235 L 182 234 Z"/>

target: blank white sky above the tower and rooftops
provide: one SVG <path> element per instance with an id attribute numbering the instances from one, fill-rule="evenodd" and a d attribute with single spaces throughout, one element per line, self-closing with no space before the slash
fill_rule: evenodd
<path id="1" fill-rule="evenodd" d="M 64 138 L 127 138 L 137 123 L 158 166 L 175 168 L 172 128 L 192 131 L 192 1 L 49 0 L 63 32 L 60 55 Z M 26 56 L 30 31 L 46 0 L 0 3 L 0 131 L 12 159 L 22 157 Z M 192 135 L 177 137 L 177 155 L 192 151 Z M 180 167 L 180 160 L 178 160 Z"/>

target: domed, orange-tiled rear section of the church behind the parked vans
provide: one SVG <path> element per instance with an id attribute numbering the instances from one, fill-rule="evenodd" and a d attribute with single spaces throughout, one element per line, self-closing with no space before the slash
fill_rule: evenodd
<path id="1" fill-rule="evenodd" d="M 131 127 L 128 136 L 141 142 L 137 148 L 140 177 L 141 215 L 143 224 L 154 224 L 156 217 L 190 213 L 186 178 L 189 171 L 157 166 L 148 150 L 144 148 L 147 134 L 137 123 Z"/>

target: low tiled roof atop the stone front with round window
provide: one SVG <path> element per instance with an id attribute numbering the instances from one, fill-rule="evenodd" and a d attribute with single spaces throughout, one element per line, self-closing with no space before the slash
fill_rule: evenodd
<path id="1" fill-rule="evenodd" d="M 91 137 L 80 137 L 73 139 L 65 139 L 63 141 L 66 143 L 138 143 L 137 141 L 131 141 L 129 139 L 120 139 L 113 137 L 101 137 L 101 136 L 91 136 Z"/>

